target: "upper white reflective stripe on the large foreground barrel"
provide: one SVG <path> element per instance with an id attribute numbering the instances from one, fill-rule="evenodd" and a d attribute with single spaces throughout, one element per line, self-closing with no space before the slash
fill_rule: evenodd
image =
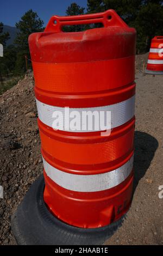
<path id="1" fill-rule="evenodd" d="M 55 118 L 53 117 L 53 113 L 54 112 L 61 112 L 62 113 L 62 117 L 65 121 L 65 123 L 70 123 L 70 121 L 68 121 L 70 117 L 70 114 L 72 111 L 78 111 L 80 114 L 80 117 L 82 117 L 82 112 L 83 111 L 91 111 L 91 113 L 93 113 L 94 111 L 97 111 L 98 116 L 101 118 L 100 119 L 100 123 L 106 124 L 106 112 L 110 112 L 111 113 L 111 127 L 109 128 L 114 128 L 117 126 L 120 126 L 122 124 L 125 124 L 127 121 L 129 121 L 131 118 L 134 117 L 134 112 L 135 112 L 135 95 L 130 97 L 129 99 L 113 104 L 113 105 L 108 105 L 108 106 L 102 106 L 102 107 L 89 107 L 89 108 L 69 108 L 69 113 L 65 113 L 65 108 L 64 107 L 56 107 L 56 106 L 51 106 L 51 105 L 47 105 L 45 103 L 42 103 L 41 101 L 36 99 L 36 105 L 37 105 L 37 111 L 38 111 L 38 115 L 39 115 L 39 119 L 42 121 L 42 123 L 53 127 L 54 129 L 58 129 L 58 130 L 63 130 L 63 131 L 67 131 L 67 129 L 65 128 L 65 126 L 56 126 L 54 125 L 54 120 Z M 105 114 L 102 115 L 101 117 L 101 111 L 103 111 Z M 89 119 L 90 120 L 90 119 Z M 87 122 L 87 121 L 86 121 Z M 59 122 L 60 123 L 60 122 Z M 64 123 L 64 124 L 65 124 Z M 81 121 L 82 123 L 82 121 Z M 101 127 L 99 125 L 98 129 L 96 129 L 95 126 L 93 126 L 93 129 L 90 130 L 88 128 L 88 126 L 86 125 L 85 129 L 84 127 L 81 126 L 81 129 L 79 130 L 72 130 L 71 127 L 68 131 L 71 132 L 90 132 L 90 131 L 101 131 L 101 130 L 106 130 L 103 129 L 103 127 Z"/>

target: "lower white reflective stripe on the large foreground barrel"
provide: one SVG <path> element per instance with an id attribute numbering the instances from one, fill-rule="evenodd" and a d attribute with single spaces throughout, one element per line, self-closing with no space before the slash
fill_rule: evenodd
<path id="1" fill-rule="evenodd" d="M 95 175 L 78 175 L 62 172 L 47 163 L 45 159 L 43 159 L 43 166 L 49 178 L 59 186 L 72 191 L 95 192 L 108 190 L 126 180 L 133 169 L 133 160 L 134 156 L 123 166 L 115 170 Z"/>

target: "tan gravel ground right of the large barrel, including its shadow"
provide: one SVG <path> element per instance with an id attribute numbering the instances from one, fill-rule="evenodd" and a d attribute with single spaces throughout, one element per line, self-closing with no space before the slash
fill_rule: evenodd
<path id="1" fill-rule="evenodd" d="M 131 208 L 106 245 L 163 245 L 163 76 L 136 74 L 135 183 Z M 162 193 L 163 194 L 163 193 Z"/>

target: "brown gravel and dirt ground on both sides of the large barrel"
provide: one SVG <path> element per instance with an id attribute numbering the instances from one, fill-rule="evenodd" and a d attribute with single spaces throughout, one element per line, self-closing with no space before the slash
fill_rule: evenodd
<path id="1" fill-rule="evenodd" d="M 142 61 L 141 61 L 142 63 Z M 162 245 L 163 77 L 136 74 L 135 184 L 126 220 L 106 245 Z M 34 81 L 24 80 L 0 96 L 0 244 L 14 245 L 10 217 L 42 173 Z M 25 118 L 24 118 L 25 117 Z"/>

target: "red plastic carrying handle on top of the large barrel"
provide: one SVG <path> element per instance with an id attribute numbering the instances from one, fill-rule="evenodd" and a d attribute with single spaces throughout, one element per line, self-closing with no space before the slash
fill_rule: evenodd
<path id="1" fill-rule="evenodd" d="M 76 16 L 52 16 L 45 32 L 61 32 L 62 26 L 84 25 L 89 23 L 103 23 L 104 27 L 118 26 L 128 27 L 117 13 L 110 9 L 103 13 L 84 14 Z"/>

